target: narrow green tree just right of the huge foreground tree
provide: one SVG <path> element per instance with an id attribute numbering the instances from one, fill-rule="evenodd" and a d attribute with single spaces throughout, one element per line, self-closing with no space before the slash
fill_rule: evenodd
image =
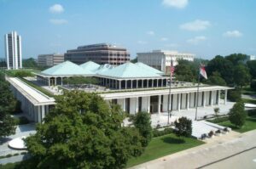
<path id="1" fill-rule="evenodd" d="M 143 147 L 146 147 L 152 138 L 150 115 L 148 112 L 138 112 L 134 118 L 132 118 L 132 121 L 141 136 L 143 136 Z"/>

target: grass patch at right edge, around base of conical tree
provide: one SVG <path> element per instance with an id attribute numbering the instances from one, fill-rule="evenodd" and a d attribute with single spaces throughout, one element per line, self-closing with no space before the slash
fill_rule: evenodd
<path id="1" fill-rule="evenodd" d="M 256 129 L 256 115 L 247 116 L 245 125 L 241 128 L 236 128 L 234 125 L 230 123 L 230 121 L 224 121 L 218 124 L 224 127 L 230 127 L 232 128 L 232 130 L 236 132 L 248 132 L 250 130 Z"/>

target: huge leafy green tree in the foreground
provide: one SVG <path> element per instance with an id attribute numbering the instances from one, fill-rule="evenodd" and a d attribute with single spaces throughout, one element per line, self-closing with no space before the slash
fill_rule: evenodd
<path id="1" fill-rule="evenodd" d="M 67 92 L 38 124 L 26 146 L 38 168 L 123 168 L 141 155 L 142 137 L 122 127 L 125 113 L 96 93 Z"/>

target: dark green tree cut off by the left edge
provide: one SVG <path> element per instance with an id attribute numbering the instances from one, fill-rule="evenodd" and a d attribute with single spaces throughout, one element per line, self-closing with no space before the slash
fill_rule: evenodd
<path id="1" fill-rule="evenodd" d="M 16 100 L 9 89 L 9 83 L 5 82 L 0 73 L 0 138 L 15 134 L 15 119 L 10 113 L 15 111 Z"/>

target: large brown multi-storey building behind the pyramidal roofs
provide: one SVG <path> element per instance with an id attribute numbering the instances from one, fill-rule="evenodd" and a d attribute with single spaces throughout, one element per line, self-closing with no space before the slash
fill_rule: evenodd
<path id="1" fill-rule="evenodd" d="M 122 65 L 130 60 L 130 53 L 126 48 L 119 48 L 108 43 L 99 43 L 67 50 L 64 58 L 65 61 L 69 60 L 78 65 L 87 61 L 93 61 L 100 65 Z"/>

